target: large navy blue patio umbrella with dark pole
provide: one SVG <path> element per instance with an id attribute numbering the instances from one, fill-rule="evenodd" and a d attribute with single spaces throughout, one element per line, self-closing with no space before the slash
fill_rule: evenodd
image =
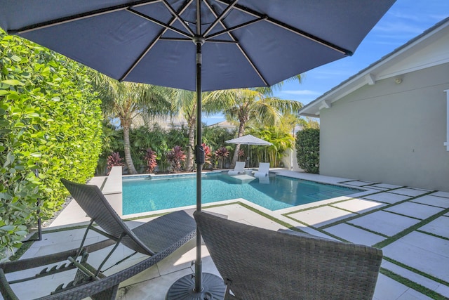
<path id="1" fill-rule="evenodd" d="M 0 27 L 120 81 L 196 91 L 200 211 L 201 92 L 271 86 L 351 56 L 393 3 L 0 0 Z M 202 280 L 199 233 L 196 247 L 194 283 L 187 282 L 186 298 L 177 299 L 203 299 L 215 290 L 209 275 Z M 174 297 L 169 292 L 168 298 Z"/>

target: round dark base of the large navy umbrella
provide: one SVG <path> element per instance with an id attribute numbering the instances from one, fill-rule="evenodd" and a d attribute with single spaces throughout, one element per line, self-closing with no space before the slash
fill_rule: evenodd
<path id="1" fill-rule="evenodd" d="M 195 280 L 192 275 L 186 275 L 178 279 L 168 289 L 166 300 L 212 300 L 223 299 L 225 297 L 225 282 L 217 275 L 203 273 L 202 286 L 200 292 L 194 291 Z"/>

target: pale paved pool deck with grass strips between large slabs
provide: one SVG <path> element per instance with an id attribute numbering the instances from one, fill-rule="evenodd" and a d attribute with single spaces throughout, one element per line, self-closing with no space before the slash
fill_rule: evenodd
<path id="1" fill-rule="evenodd" d="M 206 204 L 203 209 L 261 228 L 278 230 L 286 228 L 281 224 L 288 224 L 288 227 L 297 227 L 314 235 L 381 248 L 384 259 L 374 299 L 449 298 L 449 193 L 295 171 L 276 172 L 294 178 L 344 184 L 366 191 L 278 211 L 269 211 L 243 199 L 220 202 L 222 205 L 218 207 Z M 91 183 L 101 182 L 101 178 L 94 178 Z M 116 193 L 107 197 L 111 196 L 116 197 Z M 138 226 L 149 219 L 152 216 L 128 221 L 128 225 Z M 43 240 L 34 242 L 22 259 L 76 247 L 84 230 L 69 228 L 87 222 L 86 214 L 76 202 L 70 202 L 53 223 L 43 230 Z M 55 231 L 57 228 L 67 230 Z M 98 238 L 95 233 L 90 235 L 89 241 L 96 242 Z M 111 260 L 116 261 L 125 255 L 126 247 L 123 247 L 115 252 L 116 257 Z M 175 280 L 194 272 L 191 262 L 195 255 L 195 241 L 192 240 L 152 268 L 123 282 L 117 299 L 165 299 L 166 292 Z M 219 275 L 205 246 L 202 256 L 203 272 Z M 129 266 L 142 258 L 133 256 L 117 268 Z M 47 287 L 53 287 L 55 284 L 52 281 L 51 278 L 43 280 L 39 290 L 44 292 Z M 420 292 L 412 288 L 417 285 L 420 286 Z M 13 288 L 22 293 L 20 299 L 39 296 L 36 288 L 20 289 L 17 285 Z"/>

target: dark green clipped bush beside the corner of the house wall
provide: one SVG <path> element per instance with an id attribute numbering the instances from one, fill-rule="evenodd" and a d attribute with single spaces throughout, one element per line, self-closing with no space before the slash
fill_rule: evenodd
<path id="1" fill-rule="evenodd" d="M 296 136 L 297 164 L 308 173 L 320 171 L 320 130 L 304 129 Z"/>

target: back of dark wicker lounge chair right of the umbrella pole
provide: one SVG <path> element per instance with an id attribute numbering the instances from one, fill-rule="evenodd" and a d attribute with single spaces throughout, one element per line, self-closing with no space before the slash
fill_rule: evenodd
<path id="1" fill-rule="evenodd" d="M 225 299 L 373 297 L 380 249 L 293 230 L 265 230 L 205 212 L 194 217 L 227 284 Z"/>

